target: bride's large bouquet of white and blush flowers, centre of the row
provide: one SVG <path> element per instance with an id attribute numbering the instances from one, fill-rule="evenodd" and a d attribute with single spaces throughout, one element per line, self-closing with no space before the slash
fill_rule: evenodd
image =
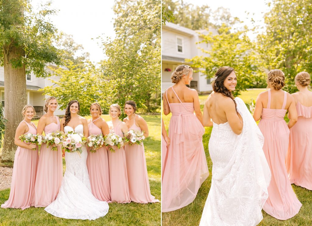
<path id="1" fill-rule="evenodd" d="M 82 145 L 85 144 L 87 138 L 81 133 L 74 133 L 69 131 L 65 134 L 62 146 L 67 152 L 78 152 L 82 153 Z"/>

